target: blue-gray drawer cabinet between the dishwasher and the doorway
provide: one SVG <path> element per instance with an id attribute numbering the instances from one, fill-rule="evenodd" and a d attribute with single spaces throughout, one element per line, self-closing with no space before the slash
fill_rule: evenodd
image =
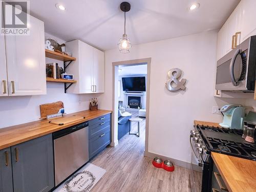
<path id="1" fill-rule="evenodd" d="M 89 159 L 111 142 L 111 114 L 89 121 Z"/>

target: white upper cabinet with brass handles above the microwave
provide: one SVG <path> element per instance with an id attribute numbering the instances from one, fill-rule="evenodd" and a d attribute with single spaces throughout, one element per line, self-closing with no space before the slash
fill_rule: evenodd
<path id="1" fill-rule="evenodd" d="M 226 20 L 218 33 L 217 60 L 249 36 L 256 35 L 255 7 L 255 0 L 242 0 Z"/>

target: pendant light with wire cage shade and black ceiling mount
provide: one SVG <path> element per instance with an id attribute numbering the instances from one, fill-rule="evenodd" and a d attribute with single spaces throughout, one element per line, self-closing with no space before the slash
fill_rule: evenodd
<path id="1" fill-rule="evenodd" d="M 130 11 L 131 9 L 131 5 L 130 3 L 127 2 L 123 2 L 120 4 L 120 9 L 124 12 L 124 34 L 123 37 L 119 39 L 118 41 L 118 47 L 119 47 L 119 51 L 121 53 L 130 53 L 130 49 L 132 47 L 130 39 L 127 38 L 126 35 L 126 29 L 125 29 L 125 25 L 126 25 L 126 17 L 125 17 L 125 13 Z"/>

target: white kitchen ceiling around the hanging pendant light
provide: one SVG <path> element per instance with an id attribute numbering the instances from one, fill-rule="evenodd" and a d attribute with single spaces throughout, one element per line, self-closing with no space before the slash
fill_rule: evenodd
<path id="1" fill-rule="evenodd" d="M 47 33 L 80 39 L 101 50 L 117 48 L 123 34 L 122 0 L 30 0 L 30 12 L 45 22 Z M 126 34 L 132 45 L 220 29 L 240 0 L 128 0 Z M 62 4 L 65 11 L 55 8 Z"/>

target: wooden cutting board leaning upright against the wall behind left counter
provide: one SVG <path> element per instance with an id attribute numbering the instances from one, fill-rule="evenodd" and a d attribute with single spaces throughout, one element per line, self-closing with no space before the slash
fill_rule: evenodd
<path id="1" fill-rule="evenodd" d="M 47 115 L 56 114 L 61 108 L 64 108 L 62 101 L 46 103 L 40 105 L 41 119 L 46 119 Z"/>

